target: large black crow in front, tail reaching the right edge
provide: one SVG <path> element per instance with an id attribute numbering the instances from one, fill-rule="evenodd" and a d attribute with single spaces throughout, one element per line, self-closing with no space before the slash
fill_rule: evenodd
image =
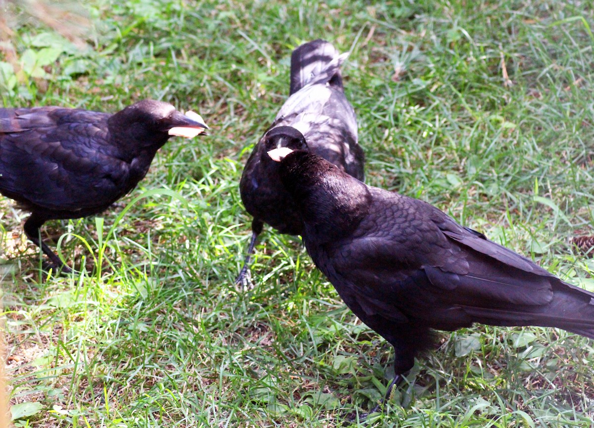
<path id="1" fill-rule="evenodd" d="M 431 347 L 431 329 L 538 325 L 594 338 L 593 293 L 432 205 L 367 186 L 319 156 L 287 148 L 270 156 L 300 208 L 315 265 L 394 347 L 396 376 L 386 397 Z"/>

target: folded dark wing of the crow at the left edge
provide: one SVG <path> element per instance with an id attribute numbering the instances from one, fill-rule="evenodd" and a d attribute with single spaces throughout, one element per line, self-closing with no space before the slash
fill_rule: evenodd
<path id="1" fill-rule="evenodd" d="M 114 157 L 106 119 L 85 110 L 0 110 L 0 191 L 25 205 L 79 211 L 125 193 L 129 166 Z"/>

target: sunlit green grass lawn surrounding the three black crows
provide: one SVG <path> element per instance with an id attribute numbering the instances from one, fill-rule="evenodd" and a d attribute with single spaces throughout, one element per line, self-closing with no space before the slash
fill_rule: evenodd
<path id="1" fill-rule="evenodd" d="M 242 164 L 286 99 L 291 50 L 318 37 L 351 52 L 368 183 L 594 291 L 594 262 L 569 245 L 594 226 L 592 2 L 85 3 L 82 48 L 8 5 L 2 104 L 115 112 L 150 97 L 200 112 L 211 132 L 171 140 L 103 220 L 48 223 L 46 239 L 69 232 L 77 275 L 45 280 L 19 237 L 26 214 L 0 201 L 11 404 L 33 413 L 18 426 L 340 426 L 383 395 L 390 347 L 298 239 L 267 230 L 256 287 L 233 285 L 251 220 Z M 440 338 L 362 425 L 592 423 L 592 341 L 491 326 Z"/>

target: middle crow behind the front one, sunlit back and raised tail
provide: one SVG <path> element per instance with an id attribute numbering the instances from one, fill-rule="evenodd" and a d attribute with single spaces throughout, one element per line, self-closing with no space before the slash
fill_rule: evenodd
<path id="1" fill-rule="evenodd" d="M 255 145 L 239 183 L 241 200 L 254 220 L 238 284 L 249 281 L 249 259 L 264 223 L 280 233 L 303 231 L 298 209 L 280 183 L 279 166 L 268 157 L 269 150 L 308 150 L 363 179 L 365 157 L 357 142 L 355 112 L 345 97 L 340 75 L 346 56 L 319 39 L 299 46 L 291 55 L 289 99 Z"/>

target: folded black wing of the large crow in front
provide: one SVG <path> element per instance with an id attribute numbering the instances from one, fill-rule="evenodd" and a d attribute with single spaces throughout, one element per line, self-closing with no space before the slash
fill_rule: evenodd
<path id="1" fill-rule="evenodd" d="M 331 246 L 328 259 L 339 282 L 380 302 L 384 315 L 394 306 L 432 319 L 454 308 L 505 312 L 551 302 L 552 283 L 561 281 L 525 257 L 425 202 L 379 189 L 372 194 L 368 217 L 350 239 Z"/>

